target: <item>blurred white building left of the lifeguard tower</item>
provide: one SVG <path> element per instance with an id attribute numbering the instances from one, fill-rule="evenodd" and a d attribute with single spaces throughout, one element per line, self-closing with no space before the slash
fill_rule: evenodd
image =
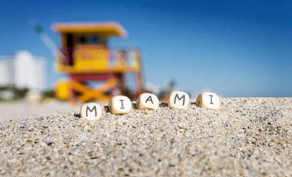
<path id="1" fill-rule="evenodd" d="M 46 79 L 44 58 L 33 56 L 28 51 L 18 51 L 15 56 L 0 56 L 0 86 L 44 90 Z"/>

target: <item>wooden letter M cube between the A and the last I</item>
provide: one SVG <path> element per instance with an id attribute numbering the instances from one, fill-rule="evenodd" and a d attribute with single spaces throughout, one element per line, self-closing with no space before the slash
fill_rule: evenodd
<path id="1" fill-rule="evenodd" d="M 190 97 L 185 92 L 173 91 L 170 94 L 168 108 L 183 109 L 188 107 Z"/>

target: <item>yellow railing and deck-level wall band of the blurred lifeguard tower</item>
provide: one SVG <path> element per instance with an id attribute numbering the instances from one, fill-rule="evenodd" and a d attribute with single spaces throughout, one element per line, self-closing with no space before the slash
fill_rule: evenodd
<path id="1" fill-rule="evenodd" d="M 60 49 L 56 69 L 62 73 L 138 72 L 141 55 L 138 48 L 107 48 L 83 45 Z"/>

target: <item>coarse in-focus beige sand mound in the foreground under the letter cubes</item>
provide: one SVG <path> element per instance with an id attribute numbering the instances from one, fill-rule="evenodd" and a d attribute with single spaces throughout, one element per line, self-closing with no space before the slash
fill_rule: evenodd
<path id="1" fill-rule="evenodd" d="M 292 98 L 0 123 L 0 176 L 292 176 Z M 134 104 L 133 104 L 134 107 Z"/>

